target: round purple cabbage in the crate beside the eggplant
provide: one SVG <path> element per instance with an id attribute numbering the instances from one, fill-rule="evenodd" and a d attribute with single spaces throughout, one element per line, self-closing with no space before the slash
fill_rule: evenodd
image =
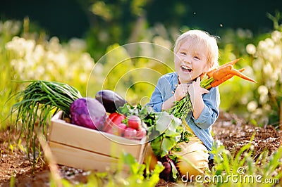
<path id="1" fill-rule="evenodd" d="M 106 110 L 95 98 L 78 98 L 71 103 L 71 123 L 81 127 L 102 130 Z"/>

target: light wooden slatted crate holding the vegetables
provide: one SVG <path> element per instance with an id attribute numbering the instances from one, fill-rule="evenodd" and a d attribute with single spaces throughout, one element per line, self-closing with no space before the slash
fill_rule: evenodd
<path id="1" fill-rule="evenodd" d="M 130 140 L 102 131 L 79 127 L 61 120 L 62 112 L 51 118 L 49 147 L 56 163 L 80 169 L 104 172 L 117 169 L 123 152 L 142 163 L 147 148 L 146 138 Z M 124 167 L 123 170 L 128 170 Z"/>

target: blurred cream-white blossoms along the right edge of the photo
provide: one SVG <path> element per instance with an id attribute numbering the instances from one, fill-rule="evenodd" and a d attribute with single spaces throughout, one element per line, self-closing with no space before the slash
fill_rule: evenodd
<path id="1" fill-rule="evenodd" d="M 274 30 L 257 46 L 247 45 L 247 52 L 253 58 L 252 68 L 259 85 L 252 99 L 247 103 L 250 118 L 258 124 L 282 123 L 282 27 Z"/>

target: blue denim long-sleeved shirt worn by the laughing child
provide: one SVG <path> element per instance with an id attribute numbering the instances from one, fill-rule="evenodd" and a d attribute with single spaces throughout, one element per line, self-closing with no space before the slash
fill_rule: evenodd
<path id="1" fill-rule="evenodd" d="M 161 112 L 161 105 L 173 96 L 177 85 L 178 75 L 176 72 L 171 72 L 160 77 L 148 105 L 152 106 L 156 112 Z M 212 150 L 214 142 L 211 134 L 212 124 L 214 124 L 219 116 L 220 95 L 218 87 L 209 89 L 209 93 L 204 93 L 202 98 L 204 101 L 204 110 L 200 117 L 196 120 L 192 115 L 188 115 L 185 120 L 194 134 L 204 143 L 204 146 L 208 150 Z M 210 158 L 212 157 L 213 155 L 210 155 Z"/>

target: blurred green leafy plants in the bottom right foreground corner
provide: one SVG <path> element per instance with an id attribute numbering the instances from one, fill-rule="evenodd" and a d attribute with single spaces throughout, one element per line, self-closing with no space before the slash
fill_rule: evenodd
<path id="1" fill-rule="evenodd" d="M 282 148 L 278 148 L 270 157 L 265 150 L 255 158 L 252 143 L 243 146 L 234 155 L 220 142 L 216 142 L 212 153 L 215 155 L 215 166 L 207 173 L 207 179 L 211 180 L 203 181 L 209 186 L 276 186 L 281 180 L 282 171 L 279 167 Z"/>

